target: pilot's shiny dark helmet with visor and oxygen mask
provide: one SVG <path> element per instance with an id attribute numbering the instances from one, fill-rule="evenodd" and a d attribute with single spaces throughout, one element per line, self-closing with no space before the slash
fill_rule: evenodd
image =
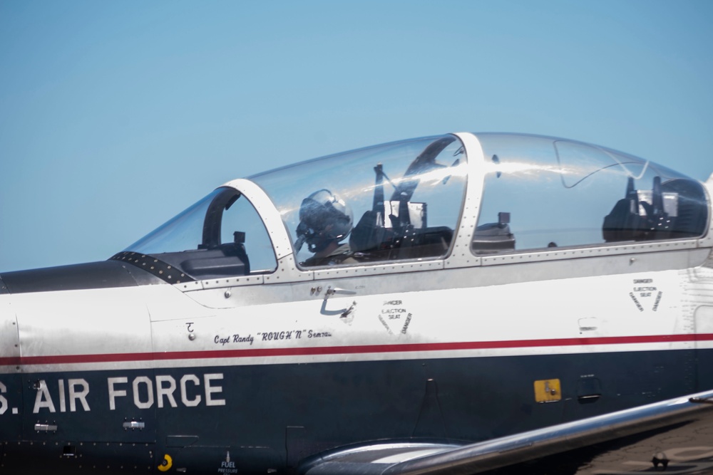
<path id="1" fill-rule="evenodd" d="M 297 226 L 297 251 L 307 242 L 310 252 L 325 249 L 332 241 L 341 241 L 354 221 L 352 209 L 328 189 L 320 189 L 302 200 Z"/>

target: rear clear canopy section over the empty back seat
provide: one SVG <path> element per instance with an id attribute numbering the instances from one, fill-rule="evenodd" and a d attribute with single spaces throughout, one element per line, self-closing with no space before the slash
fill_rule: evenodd
<path id="1" fill-rule="evenodd" d="M 486 173 L 476 254 L 705 234 L 702 185 L 670 169 L 551 137 L 481 134 L 478 140 Z"/>

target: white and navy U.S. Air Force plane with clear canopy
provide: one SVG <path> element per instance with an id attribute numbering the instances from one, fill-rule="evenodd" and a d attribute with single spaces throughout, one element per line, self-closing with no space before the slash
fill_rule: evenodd
<path id="1" fill-rule="evenodd" d="M 700 423 L 712 195 L 501 133 L 234 179 L 0 274 L 0 474 L 471 474 Z M 713 456 L 681 439 L 606 473 Z"/>

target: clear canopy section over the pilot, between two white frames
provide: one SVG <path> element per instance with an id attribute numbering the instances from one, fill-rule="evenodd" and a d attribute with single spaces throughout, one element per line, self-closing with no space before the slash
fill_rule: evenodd
<path id="1" fill-rule="evenodd" d="M 461 212 L 466 167 L 460 140 L 444 135 L 332 155 L 252 179 L 275 203 L 296 261 L 307 268 L 445 256 Z M 338 201 L 324 192 L 317 196 L 332 204 L 309 198 L 320 190 Z M 330 243 L 332 252 L 325 252 Z"/>

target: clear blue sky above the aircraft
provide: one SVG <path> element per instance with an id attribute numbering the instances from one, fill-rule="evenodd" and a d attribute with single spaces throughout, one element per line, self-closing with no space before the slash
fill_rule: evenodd
<path id="1" fill-rule="evenodd" d="M 0 0 L 0 271 L 107 259 L 230 179 L 533 132 L 713 172 L 713 1 Z"/>

